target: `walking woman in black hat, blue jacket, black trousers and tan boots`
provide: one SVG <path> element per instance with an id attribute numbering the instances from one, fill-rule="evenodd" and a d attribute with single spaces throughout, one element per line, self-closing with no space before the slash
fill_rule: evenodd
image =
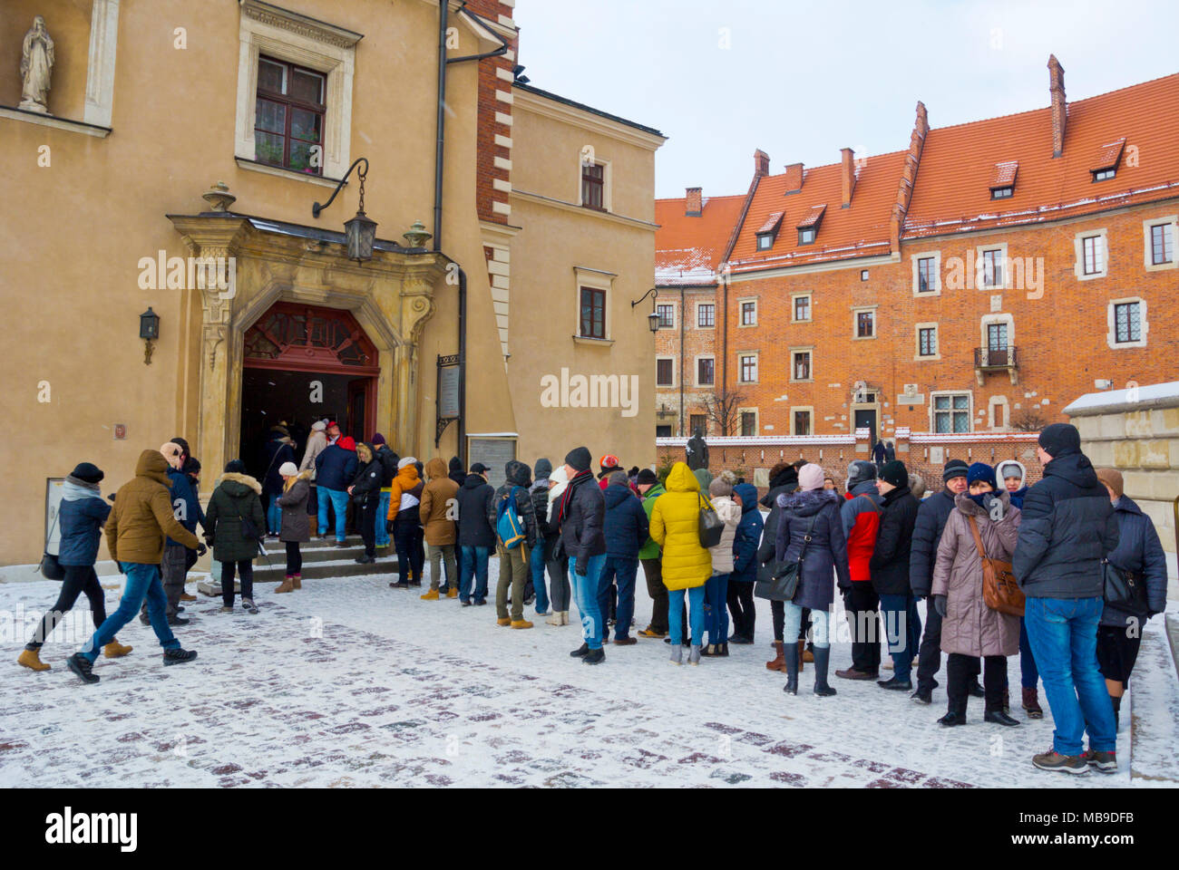
<path id="1" fill-rule="evenodd" d="M 42 567 L 42 573 L 51 580 L 61 580 L 61 592 L 53 607 L 45 612 L 33 632 L 32 640 L 25 645 L 17 661 L 32 671 L 48 671 L 50 666 L 41 661 L 41 645 L 58 622 L 73 609 L 79 595 L 86 595 L 90 601 L 90 613 L 97 630 L 106 620 L 106 593 L 103 592 L 94 562 L 98 560 L 98 540 L 111 513 L 111 506 L 99 493 L 98 483 L 103 472 L 90 462 L 79 463 L 62 485 L 61 505 L 54 522 L 61 526 L 61 543 L 54 559 L 45 554 L 45 561 L 55 561 L 59 569 L 51 565 Z M 52 534 L 52 530 L 51 530 Z M 116 638 L 103 647 L 103 654 L 108 659 L 126 655 L 130 646 L 124 646 Z"/>

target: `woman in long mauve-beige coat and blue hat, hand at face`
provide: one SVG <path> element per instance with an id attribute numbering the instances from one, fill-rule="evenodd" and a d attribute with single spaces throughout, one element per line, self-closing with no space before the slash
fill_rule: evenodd
<path id="1" fill-rule="evenodd" d="M 1012 507 L 1006 490 L 995 492 L 995 469 L 986 463 L 970 466 L 967 483 L 969 489 L 954 499 L 934 566 L 933 605 L 942 617 L 942 652 L 949 654 L 946 665 L 949 710 L 937 721 L 946 726 L 966 725 L 967 686 L 977 677 L 982 657 L 987 698 L 983 719 L 1019 725 L 1003 707 L 1007 657 L 1020 651 L 1020 618 L 993 611 L 983 600 L 982 556 L 971 521 L 987 558 L 1009 562 L 1019 539 L 1020 509 Z"/>

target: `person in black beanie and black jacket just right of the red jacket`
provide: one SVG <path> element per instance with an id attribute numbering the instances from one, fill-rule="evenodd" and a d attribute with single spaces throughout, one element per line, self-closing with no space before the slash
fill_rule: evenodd
<path id="1" fill-rule="evenodd" d="M 913 690 L 913 655 L 921 642 L 921 617 L 909 586 L 909 553 L 913 529 L 917 523 L 917 500 L 909 492 L 909 472 L 897 460 L 884 463 L 876 488 L 884 501 L 880 507 L 881 525 L 868 568 L 872 589 L 881 599 L 884 634 L 889 655 L 893 657 L 893 677 L 877 680 L 876 685 L 908 692 Z"/>

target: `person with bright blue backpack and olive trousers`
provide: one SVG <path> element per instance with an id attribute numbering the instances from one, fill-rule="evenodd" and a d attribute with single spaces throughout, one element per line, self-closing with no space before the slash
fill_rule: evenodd
<path id="1" fill-rule="evenodd" d="M 487 519 L 495 529 L 495 548 L 500 556 L 500 581 L 495 587 L 496 625 L 532 628 L 523 618 L 523 586 L 528 580 L 528 554 L 536 543 L 536 509 L 528 487 L 532 469 L 523 462 L 509 461 L 503 467 L 505 482 L 495 490 Z M 512 614 L 508 615 L 508 587 L 512 588 Z"/>

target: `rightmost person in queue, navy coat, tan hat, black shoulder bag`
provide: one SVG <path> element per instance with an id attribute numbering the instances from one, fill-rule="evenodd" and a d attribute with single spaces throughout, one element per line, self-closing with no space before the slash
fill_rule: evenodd
<path id="1" fill-rule="evenodd" d="M 1121 472 L 1098 470 L 1118 518 L 1118 546 L 1106 556 L 1105 608 L 1098 625 L 1098 667 L 1105 677 L 1114 723 L 1129 686 L 1146 621 L 1167 606 L 1167 561 L 1151 518 L 1122 492 Z"/>

